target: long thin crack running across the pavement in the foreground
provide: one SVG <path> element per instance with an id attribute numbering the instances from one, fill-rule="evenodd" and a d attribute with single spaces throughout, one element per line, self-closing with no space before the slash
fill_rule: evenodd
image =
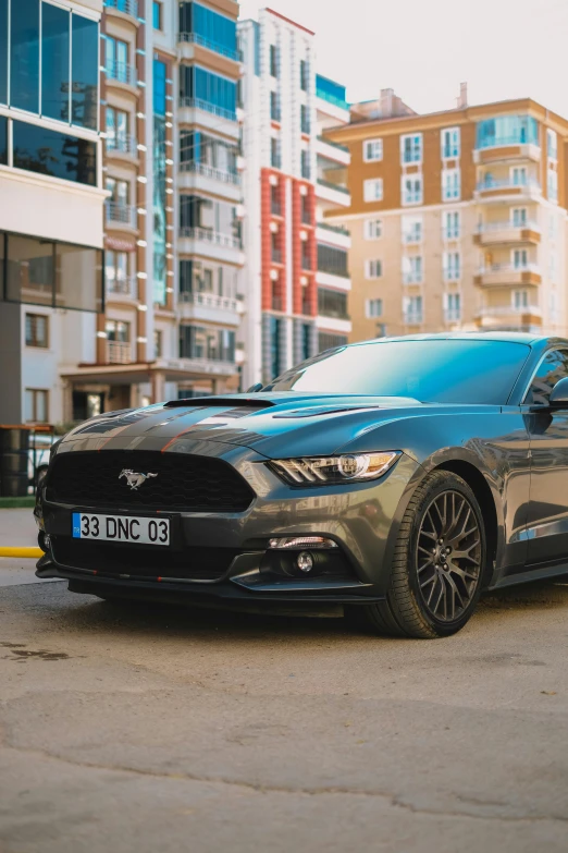
<path id="1" fill-rule="evenodd" d="M 119 765 L 106 765 L 97 764 L 95 761 L 75 761 L 71 758 L 64 758 L 60 755 L 49 753 L 47 750 L 30 750 L 23 746 L 8 746 L 4 747 L 7 752 L 23 753 L 26 755 L 35 755 L 36 757 L 47 758 L 48 760 L 59 761 L 61 764 L 69 765 L 70 767 L 86 768 L 92 770 L 109 770 L 116 773 L 129 773 L 132 776 L 143 776 L 153 779 L 169 779 L 172 781 L 182 782 L 200 782 L 202 784 L 222 784 L 231 788 L 237 788 L 246 791 L 252 791 L 260 794 L 300 794 L 305 796 L 322 796 L 322 795 L 343 795 L 354 797 L 375 797 L 386 800 L 388 805 L 393 808 L 399 808 L 405 812 L 410 812 L 413 815 L 425 815 L 430 817 L 447 817 L 447 818 L 466 818 L 470 820 L 495 820 L 511 824 L 538 824 L 538 822 L 553 822 L 568 821 L 568 816 L 560 815 L 534 815 L 526 817 L 516 817 L 511 815 L 472 815 L 469 812 L 444 812 L 435 808 L 419 808 L 411 803 L 405 803 L 397 794 L 385 791 L 354 791 L 349 788 L 341 788 L 339 785 L 322 787 L 322 788 L 286 788 L 283 785 L 266 785 L 255 782 L 236 781 L 233 779 L 224 779 L 223 777 L 200 777 L 192 773 L 168 773 L 158 770 L 140 770 L 135 767 L 121 767 Z M 2 751 L 0 750 L 0 753 Z M 464 803 L 471 802 L 479 806 L 490 807 L 503 807 L 503 803 L 495 803 L 492 801 L 482 801 L 476 799 L 469 799 L 467 796 L 459 796 L 459 800 Z"/>

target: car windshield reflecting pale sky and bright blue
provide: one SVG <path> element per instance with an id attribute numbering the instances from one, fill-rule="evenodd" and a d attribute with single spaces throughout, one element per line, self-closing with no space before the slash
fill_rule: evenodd
<path id="1" fill-rule="evenodd" d="M 526 344 L 509 341 L 363 343 L 310 358 L 262 390 L 504 405 L 529 352 Z"/>

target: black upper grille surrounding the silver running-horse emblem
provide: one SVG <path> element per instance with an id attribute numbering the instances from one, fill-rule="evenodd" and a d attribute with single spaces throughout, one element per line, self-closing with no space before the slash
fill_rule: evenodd
<path id="1" fill-rule="evenodd" d="M 132 489 L 126 477 L 119 478 L 125 470 L 158 476 Z M 244 512 L 254 497 L 246 480 L 226 462 L 183 453 L 62 453 L 47 482 L 48 500 L 84 507 Z"/>

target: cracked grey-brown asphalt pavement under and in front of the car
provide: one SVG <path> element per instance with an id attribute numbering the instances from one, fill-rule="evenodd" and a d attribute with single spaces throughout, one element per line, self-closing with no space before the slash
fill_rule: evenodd
<path id="1" fill-rule="evenodd" d="M 1 853 L 568 849 L 568 586 L 424 642 L 33 571 L 0 560 Z"/>

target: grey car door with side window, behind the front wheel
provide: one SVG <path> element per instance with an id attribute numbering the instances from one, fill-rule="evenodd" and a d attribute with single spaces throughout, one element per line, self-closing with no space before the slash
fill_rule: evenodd
<path id="1" fill-rule="evenodd" d="M 568 561 L 568 409 L 546 407 L 552 389 L 567 376 L 568 350 L 551 350 L 524 399 L 531 451 L 529 564 Z M 542 412 L 534 411 L 539 405 Z"/>

